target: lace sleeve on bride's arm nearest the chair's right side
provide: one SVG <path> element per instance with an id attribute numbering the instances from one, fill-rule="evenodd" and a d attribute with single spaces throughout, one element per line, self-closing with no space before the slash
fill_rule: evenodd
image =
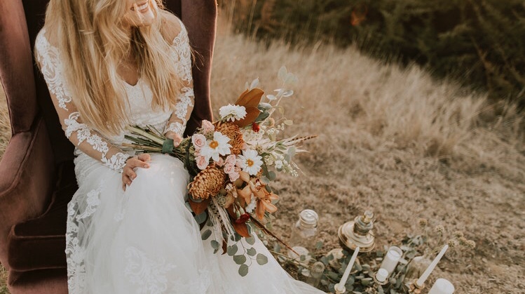
<path id="1" fill-rule="evenodd" d="M 182 77 L 185 86 L 182 87 L 181 93 L 177 98 L 177 105 L 175 111 L 170 116 L 170 120 L 166 124 L 164 133 L 168 131 L 183 135 L 186 129 L 186 122 L 191 115 L 193 109 L 193 77 L 191 75 L 191 51 L 189 46 L 188 33 L 181 20 L 179 20 L 181 30 L 173 40 L 172 48 L 174 54 L 178 55 L 179 62 L 177 63 L 177 73 Z"/>

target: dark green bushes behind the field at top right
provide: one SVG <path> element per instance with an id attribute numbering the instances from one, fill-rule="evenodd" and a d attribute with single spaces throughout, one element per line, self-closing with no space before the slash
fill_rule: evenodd
<path id="1" fill-rule="evenodd" d="M 287 41 L 330 39 L 525 106 L 521 0 L 221 0 L 236 29 Z"/>

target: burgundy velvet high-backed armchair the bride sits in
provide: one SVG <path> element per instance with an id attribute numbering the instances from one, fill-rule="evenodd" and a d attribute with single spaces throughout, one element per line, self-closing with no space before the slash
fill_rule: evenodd
<path id="1" fill-rule="evenodd" d="M 0 81 L 12 138 L 0 161 L 0 262 L 11 293 L 67 293 L 66 207 L 77 189 L 73 145 L 65 138 L 33 46 L 48 0 L 0 0 Z M 196 105 L 186 128 L 212 119 L 210 70 L 216 0 L 168 0 L 188 30 Z"/>

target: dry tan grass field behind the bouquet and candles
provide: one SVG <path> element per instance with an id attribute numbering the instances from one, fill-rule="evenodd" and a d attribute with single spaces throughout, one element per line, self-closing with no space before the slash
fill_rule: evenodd
<path id="1" fill-rule="evenodd" d="M 257 77 L 261 88 L 278 88 L 285 65 L 299 77 L 284 104 L 294 120 L 287 132 L 319 135 L 297 156 L 304 175 L 274 185 L 281 196 L 275 232 L 287 238 L 297 213 L 313 208 L 329 250 L 338 246 L 339 225 L 370 209 L 383 246 L 417 232 L 418 218 L 426 218 L 477 243 L 470 253 L 445 255 L 430 283 L 443 277 L 456 293 L 524 293 L 523 114 L 512 105 L 496 111 L 421 68 L 383 65 L 353 48 L 266 48 L 230 32 L 219 23 L 214 109 Z M 4 104 L 0 98 L 0 154 L 9 135 Z"/>

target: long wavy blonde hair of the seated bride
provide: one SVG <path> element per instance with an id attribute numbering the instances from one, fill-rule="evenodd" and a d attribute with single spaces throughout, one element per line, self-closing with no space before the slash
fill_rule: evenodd
<path id="1" fill-rule="evenodd" d="M 184 83 L 177 75 L 176 54 L 171 41 L 161 32 L 168 11 L 155 1 L 154 23 L 132 27 L 122 25 L 127 11 L 124 0 L 50 0 L 46 11 L 46 34 L 64 62 L 64 77 L 71 99 L 83 122 L 104 135 L 120 133 L 129 119 L 125 114 L 127 95 L 117 68 L 132 53 L 140 79 L 147 79 L 153 92 L 152 109 L 174 109 Z"/>

